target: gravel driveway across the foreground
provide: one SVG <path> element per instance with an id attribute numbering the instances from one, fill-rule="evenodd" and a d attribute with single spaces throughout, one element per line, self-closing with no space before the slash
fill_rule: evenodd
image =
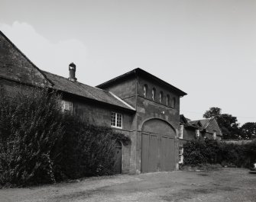
<path id="1" fill-rule="evenodd" d="M 87 178 L 0 190 L 0 201 L 256 201 L 256 175 L 241 168 Z"/>

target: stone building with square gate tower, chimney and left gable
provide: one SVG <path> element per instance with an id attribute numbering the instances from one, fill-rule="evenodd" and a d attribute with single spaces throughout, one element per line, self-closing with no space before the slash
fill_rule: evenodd
<path id="1" fill-rule="evenodd" d="M 96 87 L 76 80 L 73 63 L 69 71 L 70 77 L 63 78 L 37 68 L 0 31 L 1 88 L 56 89 L 63 95 L 64 111 L 130 137 L 130 145 L 118 147 L 120 173 L 178 169 L 180 98 L 185 92 L 139 68 Z"/>

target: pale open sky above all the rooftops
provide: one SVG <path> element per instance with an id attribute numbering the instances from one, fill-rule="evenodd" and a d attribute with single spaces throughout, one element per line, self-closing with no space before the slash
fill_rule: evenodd
<path id="1" fill-rule="evenodd" d="M 256 122 L 256 0 L 0 0 L 0 30 L 40 69 L 99 85 L 137 67 L 209 107 Z"/>

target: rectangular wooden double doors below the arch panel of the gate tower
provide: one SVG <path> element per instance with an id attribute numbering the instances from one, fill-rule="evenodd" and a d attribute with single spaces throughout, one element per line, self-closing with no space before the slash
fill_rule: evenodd
<path id="1" fill-rule="evenodd" d="M 141 172 L 173 171 L 174 148 L 173 136 L 141 133 Z"/>

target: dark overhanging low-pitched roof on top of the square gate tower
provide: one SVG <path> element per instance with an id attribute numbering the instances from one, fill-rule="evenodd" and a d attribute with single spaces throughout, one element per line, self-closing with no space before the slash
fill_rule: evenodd
<path id="1" fill-rule="evenodd" d="M 107 82 L 104 82 L 104 83 L 102 83 L 100 85 L 97 85 L 96 87 L 97 88 L 107 88 L 110 85 L 114 85 L 116 82 L 120 82 L 123 79 L 126 79 L 126 78 L 130 77 L 131 75 L 144 75 L 146 78 L 152 79 L 152 80 L 160 83 L 161 85 L 165 85 L 165 86 L 167 86 L 167 88 L 170 88 L 173 91 L 176 91 L 177 94 L 180 95 L 180 96 L 187 95 L 186 92 L 181 91 L 179 88 L 176 88 L 175 86 L 170 85 L 167 82 L 164 82 L 162 79 L 159 79 L 155 75 L 151 75 L 150 73 L 148 73 L 148 72 L 146 72 L 146 71 L 144 71 L 143 69 L 140 69 L 140 68 L 133 69 L 130 72 L 127 72 L 127 73 L 125 73 L 123 75 L 119 75 L 118 77 L 115 77 L 114 79 L 111 79 L 111 80 L 109 80 Z"/>

